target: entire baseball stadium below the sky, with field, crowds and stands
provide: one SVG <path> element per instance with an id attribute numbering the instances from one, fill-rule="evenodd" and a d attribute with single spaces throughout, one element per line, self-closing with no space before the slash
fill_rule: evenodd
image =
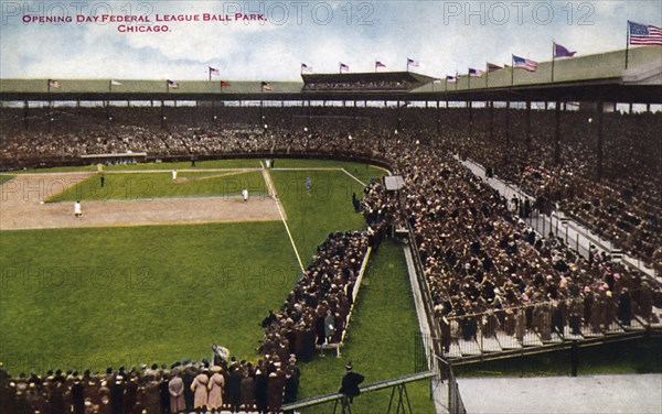
<path id="1" fill-rule="evenodd" d="M 660 54 L 0 79 L 1 411 L 467 413 L 462 380 L 590 374 L 656 410 Z"/>

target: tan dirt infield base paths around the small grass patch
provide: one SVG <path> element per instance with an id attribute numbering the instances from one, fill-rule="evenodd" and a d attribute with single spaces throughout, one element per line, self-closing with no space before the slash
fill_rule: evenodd
<path id="1" fill-rule="evenodd" d="M 22 174 L 0 185 L 0 230 L 280 220 L 277 201 L 254 197 L 185 197 L 43 203 L 90 173 Z"/>

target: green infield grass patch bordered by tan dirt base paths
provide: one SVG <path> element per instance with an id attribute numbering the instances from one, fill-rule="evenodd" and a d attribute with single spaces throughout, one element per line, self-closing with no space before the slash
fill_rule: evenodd
<path id="1" fill-rule="evenodd" d="M 266 194 L 266 184 L 258 171 L 194 179 L 199 177 L 197 173 L 182 173 L 181 176 L 178 174 L 178 181 L 172 181 L 170 172 L 104 174 L 102 187 L 102 175 L 96 174 L 54 195 L 47 201 L 223 196 L 238 195 L 242 188 L 247 188 L 253 196 Z"/>

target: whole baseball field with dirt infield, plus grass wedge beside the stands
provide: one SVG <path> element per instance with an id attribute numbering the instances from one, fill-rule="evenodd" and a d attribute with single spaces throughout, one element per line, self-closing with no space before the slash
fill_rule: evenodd
<path id="1" fill-rule="evenodd" d="M 352 193 L 384 174 L 229 160 L 0 175 L 0 358 L 12 373 L 102 371 L 200 360 L 217 342 L 256 360 L 261 318 L 330 232 L 365 226 Z M 343 358 L 305 363 L 300 396 L 335 391 L 344 358 L 367 382 L 413 372 L 417 330 L 402 248 L 387 242 L 371 259 Z M 427 386 L 409 391 L 423 411 Z"/>

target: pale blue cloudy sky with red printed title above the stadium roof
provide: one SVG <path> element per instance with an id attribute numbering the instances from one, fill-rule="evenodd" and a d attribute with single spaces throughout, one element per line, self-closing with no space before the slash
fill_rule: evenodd
<path id="1" fill-rule="evenodd" d="M 314 73 L 412 70 L 442 77 L 543 62 L 556 41 L 577 56 L 626 47 L 627 21 L 662 25 L 647 1 L 6 1 L 1 78 L 300 80 Z M 229 21 L 204 21 L 204 15 Z M 245 17 L 255 20 L 244 20 Z M 149 22 L 103 22 L 127 15 Z M 166 19 L 191 19 L 180 22 Z M 93 22 L 94 18 L 98 20 Z M 44 19 L 63 20 L 40 21 Z M 71 19 L 70 22 L 66 20 Z M 86 20 L 77 22 L 78 19 Z M 266 19 L 266 20 L 261 20 Z M 161 32 L 127 32 L 129 30 Z M 166 30 L 166 31 L 163 31 Z"/>

